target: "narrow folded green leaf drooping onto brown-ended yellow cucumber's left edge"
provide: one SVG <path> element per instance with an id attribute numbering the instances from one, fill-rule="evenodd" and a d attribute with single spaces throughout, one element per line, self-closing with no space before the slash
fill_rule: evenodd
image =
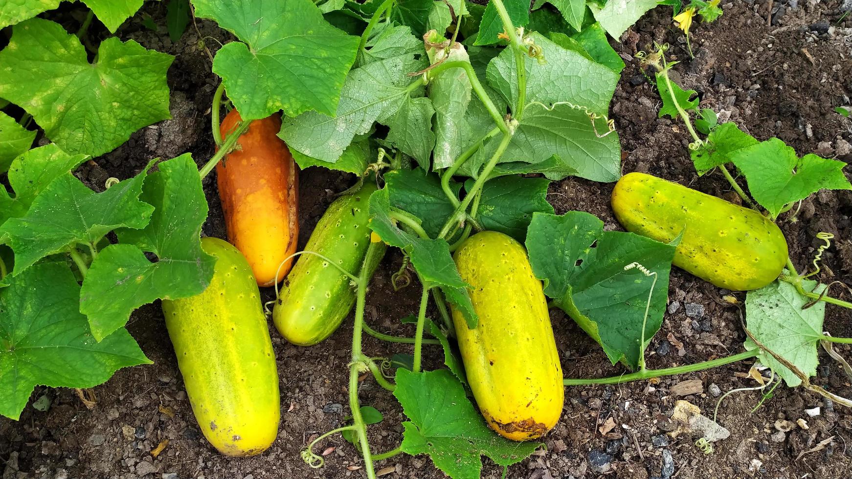
<path id="1" fill-rule="evenodd" d="M 388 189 L 373 193 L 370 196 L 370 229 L 376 231 L 383 242 L 406 250 L 423 281 L 431 283 L 429 286 L 439 286 L 446 299 L 463 311 L 470 328 L 475 328 L 478 318 L 466 289 L 468 284 L 458 274 L 449 244 L 443 239 L 416 237 L 400 230 L 391 219 L 390 212 Z"/>

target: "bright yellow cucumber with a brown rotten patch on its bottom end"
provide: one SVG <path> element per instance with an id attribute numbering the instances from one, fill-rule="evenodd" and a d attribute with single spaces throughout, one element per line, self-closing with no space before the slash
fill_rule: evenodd
<path id="1" fill-rule="evenodd" d="M 453 255 L 479 323 L 452 310 L 458 347 L 476 404 L 488 425 L 513 441 L 550 431 L 565 386 L 542 284 L 527 251 L 511 237 L 482 231 Z"/>

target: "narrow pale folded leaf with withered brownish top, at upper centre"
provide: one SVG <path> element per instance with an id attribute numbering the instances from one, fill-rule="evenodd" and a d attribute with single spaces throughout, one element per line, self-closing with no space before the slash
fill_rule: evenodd
<path id="1" fill-rule="evenodd" d="M 427 52 L 433 65 L 436 61 L 469 61 L 468 53 L 461 43 L 454 43 L 449 54 L 445 54 L 443 50 L 429 47 L 430 44 L 443 42 L 444 37 L 435 37 L 429 40 Z M 432 105 L 435 107 L 433 169 L 449 168 L 456 158 L 462 154 L 466 134 L 464 117 L 468 111 L 471 89 L 467 73 L 463 68 L 441 71 L 429 82 L 429 100 L 432 100 Z"/>

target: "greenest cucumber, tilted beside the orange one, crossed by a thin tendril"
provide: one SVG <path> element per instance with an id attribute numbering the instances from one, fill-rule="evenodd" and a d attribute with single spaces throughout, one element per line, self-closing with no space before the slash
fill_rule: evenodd
<path id="1" fill-rule="evenodd" d="M 370 246 L 368 201 L 376 185 L 371 182 L 331 203 L 311 233 L 305 251 L 337 261 L 358 275 Z M 370 274 L 382 259 L 368 265 Z M 275 328 L 294 345 L 316 345 L 331 336 L 355 304 L 349 277 L 314 254 L 302 254 L 284 280 L 273 308 Z"/>

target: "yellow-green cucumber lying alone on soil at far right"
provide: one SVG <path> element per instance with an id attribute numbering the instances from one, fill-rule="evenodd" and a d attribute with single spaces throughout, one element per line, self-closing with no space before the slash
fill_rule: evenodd
<path id="1" fill-rule="evenodd" d="M 643 173 L 622 176 L 612 202 L 627 231 L 661 242 L 683 231 L 674 265 L 719 288 L 763 288 L 786 265 L 784 234 L 753 209 Z"/>

